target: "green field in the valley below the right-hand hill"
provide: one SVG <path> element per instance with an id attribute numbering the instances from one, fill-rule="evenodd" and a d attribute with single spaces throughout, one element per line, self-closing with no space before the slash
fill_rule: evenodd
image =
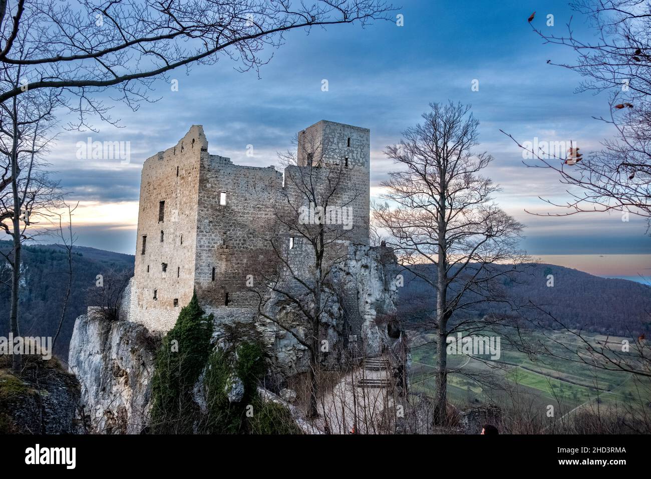
<path id="1" fill-rule="evenodd" d="M 609 340 L 621 344 L 624 339 L 605 338 L 598 334 L 585 336 L 595 343 Z M 553 340 L 536 334 L 536 339 L 546 341 L 549 349 L 559 355 L 567 353 L 565 348 L 576 350 L 579 347 L 580 340 L 574 334 L 557 332 L 550 337 Z M 413 341 L 419 345 L 411 349 L 409 377 L 412 393 L 434 395 L 436 345 L 433 341 L 433 334 L 417 335 Z M 602 370 L 549 355 L 529 358 L 504 344 L 498 360 L 490 360 L 486 355 L 448 355 L 448 368 L 453 370 L 448 376 L 448 398 L 457 407 L 482 403 L 504 406 L 517 402 L 545 411 L 551 404 L 560 414 L 566 414 L 588 405 L 651 405 L 651 381 L 648 379 L 641 380 L 628 372 Z"/>

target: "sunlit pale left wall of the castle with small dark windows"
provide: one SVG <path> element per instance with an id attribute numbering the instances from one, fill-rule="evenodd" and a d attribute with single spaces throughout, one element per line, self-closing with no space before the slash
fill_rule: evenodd
<path id="1" fill-rule="evenodd" d="M 199 171 L 201 156 L 207 154 L 208 141 L 195 125 L 174 147 L 143 165 L 130 319 L 150 330 L 172 328 L 180 308 L 192 298 Z M 165 204 L 159 220 L 161 201 Z"/>

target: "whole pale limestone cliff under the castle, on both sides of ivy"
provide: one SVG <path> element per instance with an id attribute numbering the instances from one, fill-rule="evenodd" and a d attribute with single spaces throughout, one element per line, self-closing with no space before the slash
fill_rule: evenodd
<path id="1" fill-rule="evenodd" d="M 353 291 L 365 355 L 380 355 L 394 341 L 387 326 L 396 311 L 395 257 L 389 248 L 363 245 L 351 246 L 349 257 L 333 277 L 335 283 L 348 285 L 349 295 Z M 322 354 L 322 364 L 335 369 L 346 353 L 349 330 L 341 293 L 331 291 L 325 296 L 321 337 L 327 340 L 328 351 Z M 89 314 L 77 318 L 72 334 L 68 362 L 81 383 L 80 411 L 92 433 L 139 433 L 145 428 L 160 337 L 130 321 L 130 297 L 128 287 L 118 321 L 108 321 L 89 308 Z M 264 347 L 268 388 L 279 392 L 286 379 L 307 371 L 307 348 L 292 334 L 305 338 L 307 325 L 296 305 L 286 298 L 272 295 L 266 302 L 266 314 L 286 328 L 252 308 L 201 306 L 214 315 L 213 347 L 228 350 L 242 341 L 256 341 Z M 201 406 L 201 401 L 197 403 Z"/>

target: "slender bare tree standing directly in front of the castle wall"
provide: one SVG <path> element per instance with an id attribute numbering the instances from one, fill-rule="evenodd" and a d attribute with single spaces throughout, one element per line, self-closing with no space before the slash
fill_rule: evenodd
<path id="1" fill-rule="evenodd" d="M 298 143 L 298 153 L 281 154 L 284 188 L 275 212 L 276 230 L 270 240 L 275 268 L 261 272 L 264 289 L 258 312 L 272 321 L 309 351 L 310 399 L 308 416 L 318 415 L 318 369 L 322 323 L 337 297 L 337 266 L 348 258 L 352 229 L 331 221 L 360 196 L 346 175 L 343 160 L 329 158 L 329 147 L 306 134 Z M 346 194 L 344 192 L 353 192 Z M 335 216 L 333 216 L 335 215 Z M 360 225 L 357 225 L 359 227 Z M 268 288 L 268 289 L 267 289 Z M 298 323 L 286 315 L 270 313 L 267 291 L 288 302 L 298 311 Z M 307 323 L 305 334 L 297 326 Z M 302 328 L 301 328 L 302 329 Z"/>

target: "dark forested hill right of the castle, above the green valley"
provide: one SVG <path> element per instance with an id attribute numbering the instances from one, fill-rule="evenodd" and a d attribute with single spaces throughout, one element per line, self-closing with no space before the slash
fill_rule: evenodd
<path id="1" fill-rule="evenodd" d="M 423 265 L 422 268 L 432 266 Z M 553 287 L 547 287 L 548 274 L 553 274 Z M 433 308 L 432 289 L 409 272 L 404 272 L 404 278 L 405 286 L 400 288 L 402 315 L 413 313 L 414 304 Z M 651 332 L 651 287 L 648 285 L 600 278 L 561 266 L 532 264 L 523 268 L 516 282 L 505 282 L 503 287 L 513 302 L 527 304 L 531 301 L 570 328 L 620 336 L 642 332 L 648 336 Z M 507 308 L 499 304 L 481 304 L 472 312 L 461 314 L 482 317 L 488 313 L 507 312 Z M 520 313 L 549 326 L 553 323 L 544 313 L 535 310 Z"/>

